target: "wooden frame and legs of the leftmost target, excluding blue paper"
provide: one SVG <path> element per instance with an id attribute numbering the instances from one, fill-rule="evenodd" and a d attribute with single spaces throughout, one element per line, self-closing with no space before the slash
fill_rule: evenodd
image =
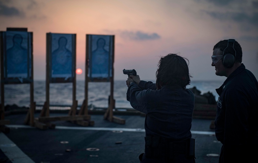
<path id="1" fill-rule="evenodd" d="M 27 28 L 7 28 L 6 31 L 17 31 L 17 32 L 27 32 Z M 10 124 L 10 120 L 4 119 L 4 84 L 30 84 L 30 107 L 27 112 L 24 124 L 34 126 L 34 112 L 36 108 L 36 102 L 34 102 L 34 84 L 33 84 L 33 33 L 32 32 L 27 32 L 28 36 L 28 60 L 31 63 L 31 68 L 28 70 L 28 73 L 30 74 L 30 77 L 23 79 L 23 82 L 21 82 L 17 77 L 13 78 L 5 78 L 5 73 L 4 72 L 4 53 L 6 53 L 6 40 L 5 40 L 5 31 L 1 31 L 1 40 L 0 40 L 0 47 L 1 47 L 1 104 L 0 104 L 0 130 L 2 132 L 8 133 L 10 132 L 10 128 L 6 127 L 5 125 Z M 28 64 L 29 67 L 29 64 Z"/>

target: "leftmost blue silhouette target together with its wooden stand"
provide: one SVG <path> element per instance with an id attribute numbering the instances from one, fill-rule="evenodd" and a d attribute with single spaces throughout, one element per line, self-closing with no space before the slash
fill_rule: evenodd
<path id="1" fill-rule="evenodd" d="M 10 39 L 12 37 L 12 39 Z M 34 102 L 33 84 L 33 32 L 27 32 L 27 28 L 7 28 L 1 31 L 1 107 L 0 129 L 9 132 L 4 125 L 10 121 L 4 119 L 4 84 L 30 84 L 30 107 L 24 123 L 34 126 Z M 11 46 L 11 47 L 10 47 Z M 24 47 L 25 46 L 25 47 Z M 19 53 L 17 53 L 19 50 Z"/>

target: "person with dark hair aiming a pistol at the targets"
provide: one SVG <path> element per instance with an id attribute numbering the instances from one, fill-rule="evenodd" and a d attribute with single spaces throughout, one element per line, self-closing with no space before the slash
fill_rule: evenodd
<path id="1" fill-rule="evenodd" d="M 186 88 L 192 77 L 188 65 L 188 59 L 168 54 L 159 60 L 156 83 L 128 74 L 126 100 L 146 114 L 140 163 L 195 163 L 191 133 L 195 95 Z"/>

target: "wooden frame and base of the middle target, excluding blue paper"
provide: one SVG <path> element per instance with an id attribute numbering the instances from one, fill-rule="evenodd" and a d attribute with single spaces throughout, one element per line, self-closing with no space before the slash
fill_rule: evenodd
<path id="1" fill-rule="evenodd" d="M 82 111 L 79 111 L 79 114 L 77 115 L 77 106 L 78 101 L 76 100 L 76 34 L 73 34 L 74 41 L 72 45 L 74 47 L 73 53 L 74 53 L 74 59 L 72 60 L 72 73 L 74 73 L 74 77 L 71 78 L 72 82 L 72 106 L 69 110 L 69 113 L 67 116 L 50 116 L 50 110 L 49 110 L 49 85 L 50 85 L 50 53 L 51 53 L 51 33 L 47 33 L 47 55 L 46 55 L 46 101 L 43 105 L 43 108 L 41 110 L 41 113 L 38 118 L 35 118 L 35 126 L 40 129 L 47 129 L 47 128 L 55 128 L 55 124 L 51 123 L 53 121 L 70 121 L 71 123 L 76 123 L 78 125 L 82 126 L 93 126 L 94 121 L 90 121 L 91 116 L 87 114 L 82 114 Z M 61 78 L 55 78 L 56 83 L 63 82 L 63 79 Z"/>

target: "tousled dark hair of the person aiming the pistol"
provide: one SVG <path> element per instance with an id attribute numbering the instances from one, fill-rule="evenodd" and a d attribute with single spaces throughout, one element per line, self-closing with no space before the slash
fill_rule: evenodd
<path id="1" fill-rule="evenodd" d="M 188 61 L 188 63 L 186 62 Z M 177 54 L 161 57 L 156 71 L 157 90 L 163 85 L 180 85 L 183 89 L 189 85 L 192 76 L 189 74 L 189 60 Z"/>

